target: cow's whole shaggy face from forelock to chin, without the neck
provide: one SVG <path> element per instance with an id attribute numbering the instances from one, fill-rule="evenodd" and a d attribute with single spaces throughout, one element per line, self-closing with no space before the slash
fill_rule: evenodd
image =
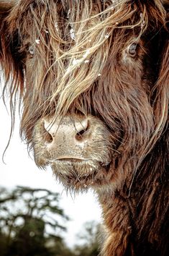
<path id="1" fill-rule="evenodd" d="M 67 187 L 119 186 L 163 125 L 155 82 L 165 7 L 140 2 L 22 0 L 1 11 L 1 59 L 11 95 L 20 89 L 23 99 L 22 132 L 37 166 L 52 166 Z"/>

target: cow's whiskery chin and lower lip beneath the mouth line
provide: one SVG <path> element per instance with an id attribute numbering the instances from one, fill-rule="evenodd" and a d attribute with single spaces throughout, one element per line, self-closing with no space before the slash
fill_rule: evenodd
<path id="1" fill-rule="evenodd" d="M 68 189 L 86 190 L 99 187 L 105 181 L 109 163 L 77 159 L 52 161 L 50 163 L 56 178 Z"/>

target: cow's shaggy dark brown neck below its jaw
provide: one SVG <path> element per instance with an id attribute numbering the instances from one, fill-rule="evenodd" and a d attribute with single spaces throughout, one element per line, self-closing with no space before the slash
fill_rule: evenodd
<path id="1" fill-rule="evenodd" d="M 167 136 L 165 132 L 137 170 L 130 193 L 129 182 L 124 182 L 116 191 L 102 189 L 98 192 L 106 236 L 104 256 L 146 255 L 144 250 L 156 256 L 160 255 L 160 248 L 167 250 L 166 235 L 160 228 L 167 218 Z"/>

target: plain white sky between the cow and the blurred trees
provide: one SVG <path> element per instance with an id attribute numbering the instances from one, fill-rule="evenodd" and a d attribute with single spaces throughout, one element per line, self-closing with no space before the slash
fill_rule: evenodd
<path id="1" fill-rule="evenodd" d="M 70 195 L 66 195 L 60 184 L 55 182 L 50 168 L 47 168 L 47 171 L 37 168 L 27 153 L 27 145 L 24 145 L 19 138 L 19 118 L 17 118 L 14 135 L 5 153 L 6 164 L 4 164 L 2 155 L 9 139 L 10 116 L 7 114 L 1 98 L 0 116 L 0 186 L 12 188 L 20 185 L 59 192 L 62 196 L 60 207 L 71 218 L 71 221 L 67 223 L 68 232 L 65 234 L 65 241 L 72 247 L 77 242 L 76 235 L 81 231 L 83 223 L 101 221 L 101 209 L 96 196 L 92 192 L 88 192 L 72 198 Z"/>

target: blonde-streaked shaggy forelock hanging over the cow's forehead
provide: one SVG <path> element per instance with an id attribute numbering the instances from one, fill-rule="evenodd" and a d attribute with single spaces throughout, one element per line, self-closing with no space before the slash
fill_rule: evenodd
<path id="1" fill-rule="evenodd" d="M 34 88 L 38 89 L 35 94 L 40 94 L 40 85 L 45 86 L 47 74 L 51 91 L 54 90 L 50 93 L 51 103 L 59 99 L 57 111 L 64 109 L 65 113 L 76 98 L 101 80 L 104 67 L 114 67 L 118 61 L 115 54 L 122 53 L 126 43 L 132 43 L 128 42 L 129 36 L 133 37 L 136 31 L 140 40 L 150 22 L 154 27 L 157 24 L 161 27 L 165 20 L 163 5 L 155 6 L 155 1 L 149 4 L 145 0 L 20 0 L 13 3 L 7 19 L 10 33 L 19 35 L 19 40 L 16 37 L 13 40 L 19 42 L 17 49 L 24 45 L 25 38 L 31 38 L 29 43 L 36 46 L 38 52 L 34 63 L 39 68 L 31 74 Z M 115 48 L 112 50 L 111 46 Z M 24 50 L 26 55 L 27 48 Z M 32 64 L 29 67 L 32 70 Z"/>

